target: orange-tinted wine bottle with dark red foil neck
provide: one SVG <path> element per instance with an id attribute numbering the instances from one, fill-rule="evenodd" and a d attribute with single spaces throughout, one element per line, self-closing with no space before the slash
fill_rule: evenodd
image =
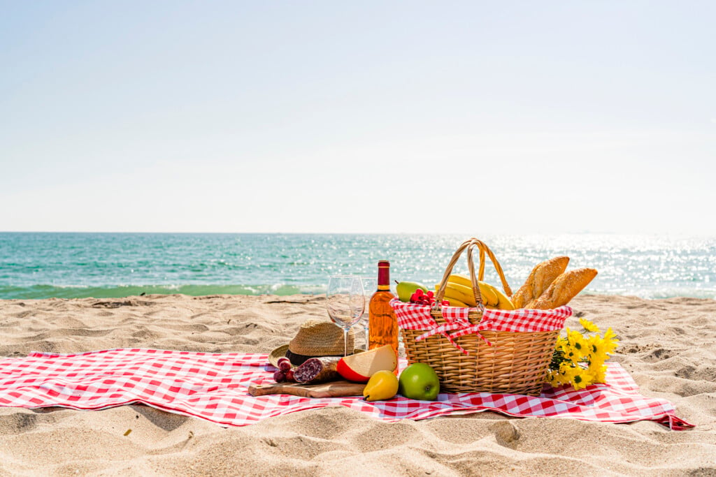
<path id="1" fill-rule="evenodd" d="M 368 349 L 391 345 L 398 355 L 398 320 L 390 306 L 395 295 L 390 291 L 390 262 L 378 262 L 378 289 L 370 297 L 368 308 Z M 397 368 L 395 369 L 397 375 Z"/>

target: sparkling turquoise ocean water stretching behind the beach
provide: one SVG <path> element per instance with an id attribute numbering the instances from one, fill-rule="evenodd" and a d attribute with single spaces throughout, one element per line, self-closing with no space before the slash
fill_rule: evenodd
<path id="1" fill-rule="evenodd" d="M 480 235 L 514 290 L 536 263 L 568 255 L 593 267 L 592 294 L 716 298 L 716 237 Z M 464 235 L 0 233 L 0 299 L 141 293 L 292 295 L 325 291 L 329 275 L 434 285 Z M 456 271 L 467 272 L 465 255 Z M 486 280 L 498 283 L 491 264 Z"/>

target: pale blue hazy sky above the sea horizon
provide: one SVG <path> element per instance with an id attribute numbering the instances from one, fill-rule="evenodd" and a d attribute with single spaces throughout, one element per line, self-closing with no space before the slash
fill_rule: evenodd
<path id="1" fill-rule="evenodd" d="M 0 231 L 716 234 L 713 1 L 0 11 Z"/>

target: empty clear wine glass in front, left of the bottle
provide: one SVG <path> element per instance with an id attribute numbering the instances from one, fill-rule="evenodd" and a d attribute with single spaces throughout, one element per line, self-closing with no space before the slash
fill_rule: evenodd
<path id="1" fill-rule="evenodd" d="M 347 356 L 348 331 L 358 323 L 365 310 L 365 292 L 360 277 L 353 275 L 329 277 L 326 309 L 333 323 L 343 328 L 343 355 Z"/>

